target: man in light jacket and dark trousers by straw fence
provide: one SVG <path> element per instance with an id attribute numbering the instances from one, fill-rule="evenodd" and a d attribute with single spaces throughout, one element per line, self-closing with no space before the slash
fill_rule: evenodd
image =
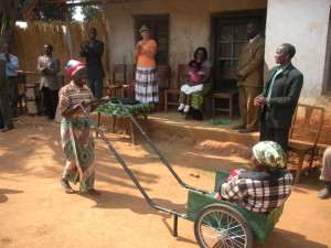
<path id="1" fill-rule="evenodd" d="M 58 103 L 58 78 L 60 60 L 52 55 L 53 46 L 46 44 L 44 46 L 45 54 L 38 58 L 38 71 L 40 77 L 40 90 L 43 91 L 44 107 L 46 108 L 47 119 L 52 120 L 55 117 Z"/>

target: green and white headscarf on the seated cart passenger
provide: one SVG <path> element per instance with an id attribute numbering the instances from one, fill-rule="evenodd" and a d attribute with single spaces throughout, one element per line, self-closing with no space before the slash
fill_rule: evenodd
<path id="1" fill-rule="evenodd" d="M 253 147 L 253 153 L 257 161 L 266 165 L 271 172 L 276 168 L 285 168 L 287 158 L 281 147 L 274 141 L 261 141 Z"/>

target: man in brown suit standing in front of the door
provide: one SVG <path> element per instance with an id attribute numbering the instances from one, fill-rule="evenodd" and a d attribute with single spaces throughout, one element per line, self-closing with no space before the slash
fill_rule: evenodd
<path id="1" fill-rule="evenodd" d="M 257 23 L 247 24 L 247 37 L 249 41 L 243 46 L 236 72 L 242 125 L 234 129 L 241 133 L 258 129 L 260 109 L 254 106 L 254 98 L 264 85 L 265 39 L 260 36 Z"/>

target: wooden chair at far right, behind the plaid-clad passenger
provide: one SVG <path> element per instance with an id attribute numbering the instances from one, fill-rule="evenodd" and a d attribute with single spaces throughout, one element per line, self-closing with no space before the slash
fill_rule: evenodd
<path id="1" fill-rule="evenodd" d="M 303 120 L 298 118 L 302 114 L 300 110 L 305 110 Z M 298 111 L 299 110 L 299 111 Z M 316 115 L 318 114 L 319 115 Z M 314 114 L 314 115 L 313 115 Z M 293 119 L 292 126 L 289 132 L 289 143 L 288 152 L 295 152 L 299 155 L 299 162 L 296 168 L 295 183 L 299 182 L 302 163 L 306 154 L 311 155 L 309 168 L 312 165 L 313 157 L 316 154 L 318 140 L 320 137 L 320 131 L 323 122 L 324 108 L 314 107 L 309 105 L 298 104 Z M 305 134 L 306 140 L 302 140 L 302 134 Z M 309 134 L 310 140 L 307 141 L 307 136 Z"/>

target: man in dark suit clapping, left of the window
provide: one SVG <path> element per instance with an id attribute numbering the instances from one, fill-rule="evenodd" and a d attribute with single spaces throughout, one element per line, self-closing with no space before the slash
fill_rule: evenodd
<path id="1" fill-rule="evenodd" d="M 86 57 L 87 86 L 96 99 L 103 98 L 103 79 L 105 77 L 102 56 L 104 43 L 96 40 L 95 28 L 88 30 L 89 40 L 82 43 L 79 55 Z"/>

